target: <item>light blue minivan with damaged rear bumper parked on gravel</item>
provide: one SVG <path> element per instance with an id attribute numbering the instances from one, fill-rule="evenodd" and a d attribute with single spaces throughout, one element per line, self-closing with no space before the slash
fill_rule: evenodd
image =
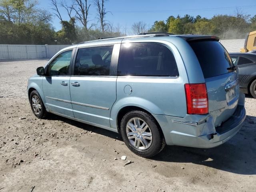
<path id="1" fill-rule="evenodd" d="M 142 157 L 165 144 L 218 146 L 246 117 L 238 70 L 218 41 L 146 33 L 64 48 L 28 80 L 32 112 L 118 132 Z"/>

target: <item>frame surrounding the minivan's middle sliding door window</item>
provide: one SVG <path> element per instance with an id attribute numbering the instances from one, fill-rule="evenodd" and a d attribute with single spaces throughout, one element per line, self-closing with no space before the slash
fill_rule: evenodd
<path id="1" fill-rule="evenodd" d="M 84 49 L 84 48 L 94 48 L 94 47 L 108 47 L 108 46 L 113 46 L 113 52 L 111 56 L 111 62 L 110 62 L 110 75 L 74 75 L 74 69 L 75 69 L 75 64 L 76 64 L 76 57 L 79 49 Z M 101 77 L 101 78 L 113 78 L 117 76 L 117 62 L 119 58 L 119 51 L 120 51 L 121 43 L 112 43 L 112 44 L 97 44 L 97 45 L 90 45 L 90 46 L 80 46 L 76 47 L 76 50 L 74 51 L 74 57 L 72 61 L 72 71 L 71 71 L 71 76 L 72 77 Z M 114 52 L 114 49 L 115 50 Z M 118 51 L 118 52 L 117 52 Z M 117 54 L 117 61 L 115 61 L 116 58 L 113 59 L 113 57 L 116 57 Z"/>

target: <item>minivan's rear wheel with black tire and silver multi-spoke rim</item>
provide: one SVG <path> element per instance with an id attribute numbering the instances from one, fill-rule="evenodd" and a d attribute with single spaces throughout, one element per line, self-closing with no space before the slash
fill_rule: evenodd
<path id="1" fill-rule="evenodd" d="M 154 117 L 143 111 L 131 111 L 121 121 L 126 146 L 138 156 L 149 158 L 164 147 L 164 138 Z"/>

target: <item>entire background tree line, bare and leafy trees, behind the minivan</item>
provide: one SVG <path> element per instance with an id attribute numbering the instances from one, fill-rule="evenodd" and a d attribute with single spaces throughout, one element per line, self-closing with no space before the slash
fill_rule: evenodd
<path id="1" fill-rule="evenodd" d="M 51 11 L 40 8 L 37 0 L 0 0 L 0 44 L 72 44 L 104 37 L 169 32 L 173 34 L 207 34 L 221 39 L 245 38 L 256 30 L 256 15 L 251 17 L 236 10 L 233 16 L 169 16 L 153 26 L 139 21 L 131 30 L 114 26 L 106 18 L 108 0 L 50 0 Z M 95 15 L 91 12 L 94 9 Z M 60 11 L 64 10 L 64 12 Z M 62 28 L 55 31 L 53 17 Z M 68 16 L 68 20 L 64 20 Z M 95 17 L 95 19 L 94 19 Z M 93 23 L 92 21 L 96 22 Z"/>

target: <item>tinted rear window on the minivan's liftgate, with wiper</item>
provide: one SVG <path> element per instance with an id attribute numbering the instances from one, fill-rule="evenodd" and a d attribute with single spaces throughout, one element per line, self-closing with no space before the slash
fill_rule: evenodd
<path id="1" fill-rule="evenodd" d="M 204 78 L 210 78 L 218 75 L 228 73 L 233 62 L 224 49 L 224 47 L 217 41 L 194 41 L 189 42 L 194 50 Z"/>

